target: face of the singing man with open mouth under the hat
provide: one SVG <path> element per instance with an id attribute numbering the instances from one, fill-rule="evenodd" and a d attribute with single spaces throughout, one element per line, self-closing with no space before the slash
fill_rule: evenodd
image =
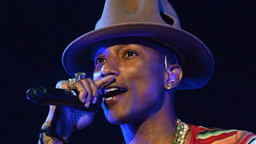
<path id="1" fill-rule="evenodd" d="M 105 117 L 114 124 L 144 120 L 164 103 L 160 53 L 147 47 L 149 43 L 138 39 L 139 44 L 133 43 L 133 39 L 105 41 L 95 53 L 94 81 L 107 75 L 116 79 L 103 89 L 102 104 Z"/>

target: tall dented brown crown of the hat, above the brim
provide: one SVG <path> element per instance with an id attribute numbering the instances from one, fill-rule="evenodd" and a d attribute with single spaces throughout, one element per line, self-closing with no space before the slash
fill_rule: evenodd
<path id="1" fill-rule="evenodd" d="M 161 12 L 181 28 L 178 16 L 167 0 L 106 0 L 95 30 L 123 23 L 167 24 Z"/>

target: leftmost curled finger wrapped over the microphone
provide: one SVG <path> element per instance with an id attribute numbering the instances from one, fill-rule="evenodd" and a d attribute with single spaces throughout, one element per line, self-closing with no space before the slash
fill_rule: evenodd
<path id="1" fill-rule="evenodd" d="M 87 96 L 88 96 L 88 91 L 87 89 L 84 87 L 84 84 L 82 84 L 81 81 L 76 81 L 73 86 L 76 88 L 76 90 L 79 92 L 79 100 L 82 103 L 85 103 Z"/>

